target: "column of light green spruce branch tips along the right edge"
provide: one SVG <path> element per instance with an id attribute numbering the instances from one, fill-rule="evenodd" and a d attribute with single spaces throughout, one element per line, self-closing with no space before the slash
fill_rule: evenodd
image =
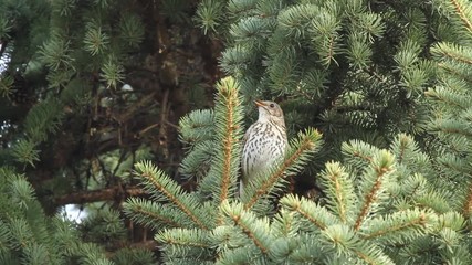
<path id="1" fill-rule="evenodd" d="M 458 210 L 470 219 L 472 7 L 469 1 L 438 1 L 438 10 L 449 23 L 441 32 L 443 41 L 431 49 L 439 82 L 426 92 L 432 107 L 428 126 L 437 137 L 433 147 L 442 151 L 437 159 L 441 176 L 438 186 L 450 192 Z"/>

